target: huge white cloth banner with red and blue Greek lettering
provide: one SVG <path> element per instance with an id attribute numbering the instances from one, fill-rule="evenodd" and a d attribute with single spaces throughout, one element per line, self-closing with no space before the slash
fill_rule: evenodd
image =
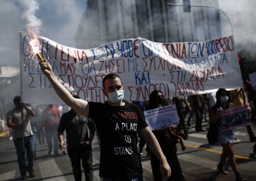
<path id="1" fill-rule="evenodd" d="M 154 90 L 164 98 L 204 94 L 243 86 L 233 36 L 201 42 L 157 43 L 143 38 L 116 40 L 77 49 L 38 37 L 40 54 L 54 75 L 81 99 L 105 102 L 102 79 L 119 75 L 127 101 L 148 100 Z M 31 54 L 30 37 L 20 33 L 21 97 L 31 104 L 63 104 Z"/>

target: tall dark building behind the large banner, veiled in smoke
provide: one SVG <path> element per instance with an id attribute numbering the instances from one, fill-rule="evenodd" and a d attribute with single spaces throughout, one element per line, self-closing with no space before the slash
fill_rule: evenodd
<path id="1" fill-rule="evenodd" d="M 218 6 L 217 0 L 190 0 L 191 4 Z M 76 32 L 76 47 L 89 49 L 127 38 L 155 42 L 204 41 L 221 37 L 220 12 L 191 7 L 181 0 L 88 0 Z"/>

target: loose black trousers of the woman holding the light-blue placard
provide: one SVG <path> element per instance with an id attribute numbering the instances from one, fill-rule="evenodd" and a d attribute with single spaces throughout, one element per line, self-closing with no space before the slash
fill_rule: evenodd
<path id="1" fill-rule="evenodd" d="M 171 167 L 171 172 L 172 172 L 171 177 L 169 177 L 167 180 L 168 181 L 185 180 L 182 175 L 180 163 L 178 160 L 176 145 L 168 145 L 166 143 L 166 145 L 161 148 L 164 153 L 164 156 L 167 159 L 168 164 Z M 154 155 L 153 152 L 151 152 L 150 161 L 151 161 L 151 167 L 152 167 L 154 181 L 163 180 L 163 176 L 160 171 L 160 162 L 159 162 L 158 158 Z"/>

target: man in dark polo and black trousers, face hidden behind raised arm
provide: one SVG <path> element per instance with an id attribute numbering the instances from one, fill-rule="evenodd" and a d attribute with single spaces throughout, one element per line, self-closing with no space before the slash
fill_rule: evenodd
<path id="1" fill-rule="evenodd" d="M 73 96 L 80 99 L 79 96 Z M 90 136 L 88 133 L 90 130 Z M 66 130 L 67 143 L 63 141 L 63 133 Z M 92 169 L 92 140 L 95 133 L 94 122 L 74 109 L 64 113 L 60 118 L 58 127 L 59 147 L 63 150 L 63 144 L 67 146 L 68 156 L 73 168 L 76 181 L 82 180 L 81 160 L 84 168 L 85 180 L 93 180 Z"/>

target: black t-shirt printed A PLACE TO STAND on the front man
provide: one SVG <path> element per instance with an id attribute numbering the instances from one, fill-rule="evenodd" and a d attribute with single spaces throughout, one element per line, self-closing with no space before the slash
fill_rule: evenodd
<path id="1" fill-rule="evenodd" d="M 138 105 L 89 102 L 89 115 L 100 136 L 100 176 L 132 177 L 142 173 L 138 130 L 148 126 Z"/>

